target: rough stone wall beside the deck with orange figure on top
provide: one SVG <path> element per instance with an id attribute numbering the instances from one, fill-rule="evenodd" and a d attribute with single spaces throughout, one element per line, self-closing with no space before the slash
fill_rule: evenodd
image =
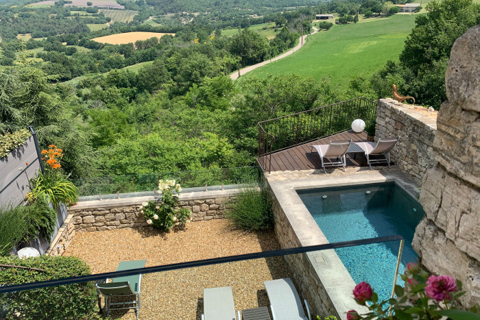
<path id="1" fill-rule="evenodd" d="M 437 112 L 409 106 L 394 99 L 380 99 L 376 109 L 375 141 L 400 136 L 391 156 L 398 167 L 420 185 L 427 169 L 433 167 L 433 139 Z"/>

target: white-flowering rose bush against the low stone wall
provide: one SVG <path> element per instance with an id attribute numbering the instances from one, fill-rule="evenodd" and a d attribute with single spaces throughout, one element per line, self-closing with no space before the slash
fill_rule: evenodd
<path id="1" fill-rule="evenodd" d="M 176 184 L 175 180 L 160 180 L 158 191 L 162 193 L 160 203 L 148 201 L 142 204 L 141 212 L 147 223 L 163 231 L 169 231 L 173 225 L 184 227 L 190 219 L 191 211 L 177 206 L 178 195 L 182 192 L 180 184 Z"/>

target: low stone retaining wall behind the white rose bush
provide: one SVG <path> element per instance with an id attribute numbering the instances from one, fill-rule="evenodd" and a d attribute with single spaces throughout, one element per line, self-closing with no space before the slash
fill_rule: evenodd
<path id="1" fill-rule="evenodd" d="M 226 203 L 237 195 L 238 190 L 182 193 L 178 206 L 192 211 L 192 221 L 221 219 Z M 131 197 L 121 199 L 81 201 L 69 208 L 77 231 L 114 230 L 123 227 L 143 227 L 148 224 L 141 213 L 144 201 L 154 197 Z"/>

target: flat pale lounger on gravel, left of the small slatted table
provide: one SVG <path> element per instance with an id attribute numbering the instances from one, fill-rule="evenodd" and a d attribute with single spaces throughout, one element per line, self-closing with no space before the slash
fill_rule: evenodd
<path id="1" fill-rule="evenodd" d="M 238 311 L 238 320 L 240 311 Z M 237 320 L 231 286 L 204 289 L 202 320 Z"/>

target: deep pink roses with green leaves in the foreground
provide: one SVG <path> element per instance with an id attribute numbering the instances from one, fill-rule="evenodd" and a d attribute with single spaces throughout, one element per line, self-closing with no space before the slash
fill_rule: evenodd
<path id="1" fill-rule="evenodd" d="M 347 319 L 480 319 L 477 307 L 470 311 L 456 308 L 456 300 L 465 291 L 461 291 L 461 282 L 451 275 L 429 276 L 416 264 L 409 263 L 405 274 L 400 277 L 405 281 L 405 288 L 395 286 L 396 299 L 380 302 L 370 284 L 357 284 L 353 289 L 353 297 L 357 304 L 366 304 L 370 312 L 360 315 L 350 310 Z"/>

